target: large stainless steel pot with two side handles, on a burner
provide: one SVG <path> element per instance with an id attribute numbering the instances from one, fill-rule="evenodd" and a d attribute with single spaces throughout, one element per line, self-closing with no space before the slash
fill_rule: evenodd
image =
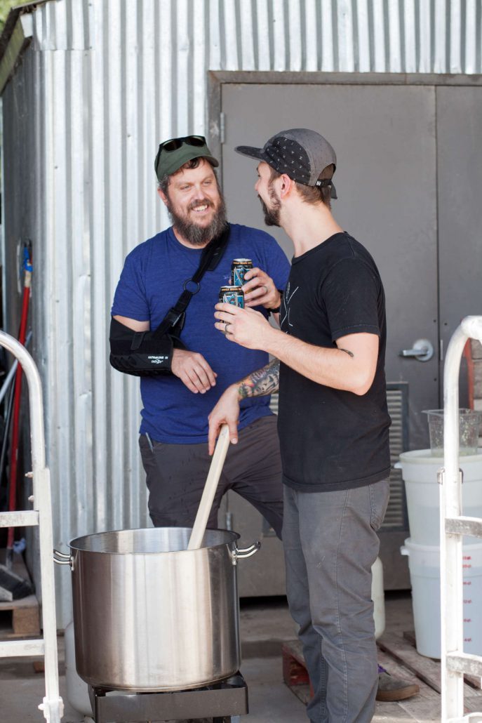
<path id="1" fill-rule="evenodd" d="M 75 660 L 87 683 L 116 690 L 197 688 L 241 663 L 236 532 L 191 529 L 78 537 L 56 562 L 72 568 Z"/>

